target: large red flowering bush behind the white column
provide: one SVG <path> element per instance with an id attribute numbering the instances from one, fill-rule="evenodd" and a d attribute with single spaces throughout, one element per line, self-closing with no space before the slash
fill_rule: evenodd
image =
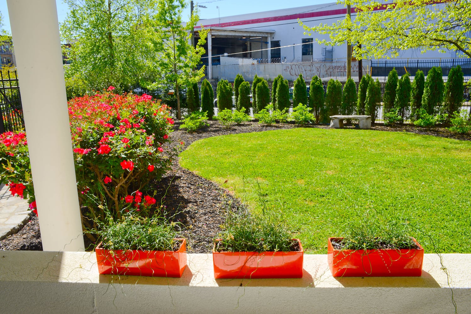
<path id="1" fill-rule="evenodd" d="M 69 101 L 79 199 L 92 220 L 103 221 L 106 212 L 118 219 L 123 212 L 146 212 L 155 199 L 139 190 L 160 179 L 170 165 L 162 149 L 173 124 L 167 107 L 146 94 L 119 95 L 112 90 Z M 12 192 L 32 203 L 24 133 L 0 136 L 0 163 L 0 181 L 10 188 L 13 183 Z"/>

